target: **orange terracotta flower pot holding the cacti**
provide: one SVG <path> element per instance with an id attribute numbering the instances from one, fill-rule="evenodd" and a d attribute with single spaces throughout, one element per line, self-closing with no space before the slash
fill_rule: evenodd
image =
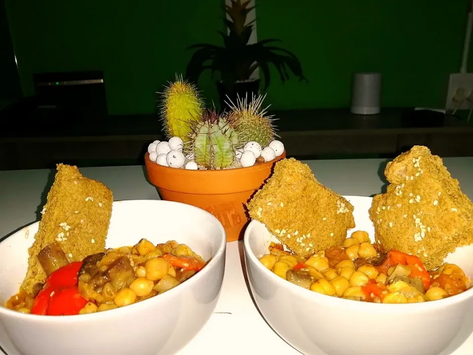
<path id="1" fill-rule="evenodd" d="M 227 241 L 233 242 L 243 238 L 249 221 L 243 204 L 270 177 L 274 163 L 285 157 L 283 152 L 270 162 L 249 168 L 204 171 L 158 165 L 149 160 L 149 153 L 144 161 L 149 181 L 163 200 L 182 202 L 212 213 L 225 227 Z"/>

